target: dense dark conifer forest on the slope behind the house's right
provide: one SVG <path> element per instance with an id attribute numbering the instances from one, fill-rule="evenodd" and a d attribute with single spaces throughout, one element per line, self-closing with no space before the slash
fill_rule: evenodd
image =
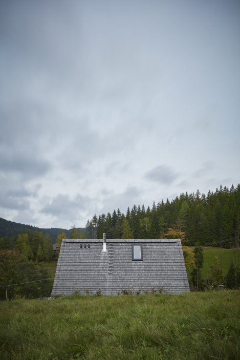
<path id="1" fill-rule="evenodd" d="M 236 187 L 216 188 L 207 195 L 199 190 L 182 193 L 172 201 L 154 202 L 152 207 L 144 204 L 120 209 L 111 215 L 93 216 L 86 223 L 88 238 L 108 239 L 159 239 L 166 238 L 169 228 L 185 233 L 186 245 L 213 245 L 231 247 L 240 235 L 240 184 Z"/>

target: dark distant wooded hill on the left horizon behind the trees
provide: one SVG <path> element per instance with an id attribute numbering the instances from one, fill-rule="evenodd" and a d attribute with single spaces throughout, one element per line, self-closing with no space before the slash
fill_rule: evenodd
<path id="1" fill-rule="evenodd" d="M 84 230 L 84 228 L 79 228 L 80 230 Z M 51 228 L 40 228 L 36 226 L 26 225 L 16 223 L 14 221 L 5 220 L 0 218 L 0 238 L 7 236 L 8 238 L 16 237 L 18 234 L 23 234 L 24 232 L 33 232 L 33 231 L 42 231 L 43 234 L 49 234 L 53 241 L 56 240 L 57 235 L 60 231 L 64 231 L 69 238 L 70 230 L 61 229 L 58 227 Z"/>

